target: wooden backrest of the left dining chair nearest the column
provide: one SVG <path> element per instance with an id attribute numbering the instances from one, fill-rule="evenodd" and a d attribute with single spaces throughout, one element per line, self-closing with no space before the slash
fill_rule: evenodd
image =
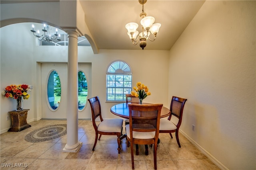
<path id="1" fill-rule="evenodd" d="M 95 119 L 100 116 L 100 121 L 103 121 L 101 115 L 100 99 L 98 96 L 88 99 L 92 110 L 92 122 L 95 123 Z"/>

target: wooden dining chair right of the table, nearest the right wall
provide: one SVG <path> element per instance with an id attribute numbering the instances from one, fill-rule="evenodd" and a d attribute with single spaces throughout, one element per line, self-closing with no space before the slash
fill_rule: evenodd
<path id="1" fill-rule="evenodd" d="M 177 143 L 180 146 L 179 140 L 179 129 L 182 121 L 183 109 L 187 99 L 172 96 L 170 105 L 170 116 L 168 119 L 160 119 L 160 130 L 159 133 L 169 133 L 172 138 L 172 133 L 175 132 Z M 172 115 L 178 118 L 178 123 L 172 122 Z"/>

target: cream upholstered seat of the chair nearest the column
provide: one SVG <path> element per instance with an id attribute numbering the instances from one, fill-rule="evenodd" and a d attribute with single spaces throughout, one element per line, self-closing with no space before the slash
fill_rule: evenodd
<path id="1" fill-rule="evenodd" d="M 120 132 L 122 131 L 123 119 L 106 119 L 98 125 L 98 131 Z"/>

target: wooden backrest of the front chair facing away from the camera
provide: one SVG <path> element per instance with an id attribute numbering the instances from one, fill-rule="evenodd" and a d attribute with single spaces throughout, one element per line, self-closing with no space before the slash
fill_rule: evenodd
<path id="1" fill-rule="evenodd" d="M 156 131 L 155 138 L 158 139 L 162 106 L 163 104 L 128 104 L 130 139 L 132 131 Z"/>

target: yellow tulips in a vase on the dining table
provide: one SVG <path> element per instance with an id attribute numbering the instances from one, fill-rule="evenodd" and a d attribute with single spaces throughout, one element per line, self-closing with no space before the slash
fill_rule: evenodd
<path id="1" fill-rule="evenodd" d="M 137 88 L 133 87 L 134 91 L 131 92 L 131 95 L 139 98 L 139 104 L 142 104 L 142 100 L 151 95 L 151 93 L 148 92 L 148 87 L 144 84 L 141 84 L 141 82 L 137 82 L 136 86 Z"/>

